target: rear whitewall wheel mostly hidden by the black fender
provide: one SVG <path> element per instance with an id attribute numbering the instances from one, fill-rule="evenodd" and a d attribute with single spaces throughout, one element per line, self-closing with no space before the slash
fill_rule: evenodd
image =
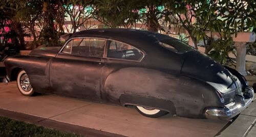
<path id="1" fill-rule="evenodd" d="M 161 111 L 159 109 L 148 108 L 144 106 L 136 106 L 136 109 L 143 116 L 150 117 L 150 118 L 158 118 L 168 114 L 168 112 Z"/>

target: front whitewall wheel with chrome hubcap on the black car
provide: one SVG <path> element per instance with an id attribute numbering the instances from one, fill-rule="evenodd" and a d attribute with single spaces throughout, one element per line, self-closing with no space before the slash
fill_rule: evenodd
<path id="1" fill-rule="evenodd" d="M 17 75 L 17 86 L 20 93 L 25 96 L 32 96 L 35 94 L 29 81 L 29 76 L 26 71 L 21 70 Z"/>

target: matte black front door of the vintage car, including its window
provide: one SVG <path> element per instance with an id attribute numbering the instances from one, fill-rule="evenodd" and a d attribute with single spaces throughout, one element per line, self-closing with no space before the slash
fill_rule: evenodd
<path id="1" fill-rule="evenodd" d="M 50 83 L 56 94 L 100 100 L 100 74 L 106 40 L 71 38 L 53 59 Z"/>

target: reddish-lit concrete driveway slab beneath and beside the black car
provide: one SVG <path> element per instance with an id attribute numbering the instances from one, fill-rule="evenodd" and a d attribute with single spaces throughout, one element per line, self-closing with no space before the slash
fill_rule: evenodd
<path id="1" fill-rule="evenodd" d="M 26 97 L 15 81 L 0 84 L 0 108 L 125 136 L 214 136 L 227 123 L 166 115 L 153 119 L 132 107 L 114 106 L 56 95 Z"/>

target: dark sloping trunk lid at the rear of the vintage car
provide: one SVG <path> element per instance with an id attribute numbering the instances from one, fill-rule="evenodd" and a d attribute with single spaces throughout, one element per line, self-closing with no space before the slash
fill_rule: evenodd
<path id="1" fill-rule="evenodd" d="M 219 92 L 225 94 L 236 90 L 233 75 L 221 64 L 199 51 L 184 53 L 181 74 L 205 81 Z M 236 84 L 241 85 L 238 80 Z"/>

